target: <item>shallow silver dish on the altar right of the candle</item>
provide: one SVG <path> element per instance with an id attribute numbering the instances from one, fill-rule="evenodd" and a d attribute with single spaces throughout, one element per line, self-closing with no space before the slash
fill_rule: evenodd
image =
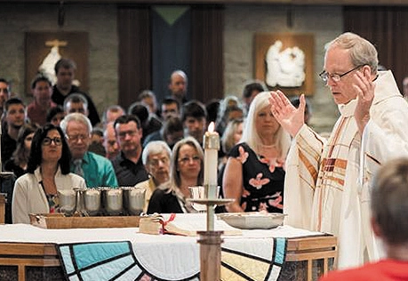
<path id="1" fill-rule="evenodd" d="M 219 213 L 220 220 L 237 229 L 273 229 L 284 223 L 283 213 Z"/>

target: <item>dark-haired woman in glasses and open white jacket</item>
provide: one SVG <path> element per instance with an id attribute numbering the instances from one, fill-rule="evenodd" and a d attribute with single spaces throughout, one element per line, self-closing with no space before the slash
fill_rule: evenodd
<path id="1" fill-rule="evenodd" d="M 60 127 L 44 124 L 34 134 L 27 173 L 14 185 L 12 222 L 29 223 L 29 213 L 59 211 L 58 191 L 86 188 L 80 176 L 69 173 L 71 154 Z"/>

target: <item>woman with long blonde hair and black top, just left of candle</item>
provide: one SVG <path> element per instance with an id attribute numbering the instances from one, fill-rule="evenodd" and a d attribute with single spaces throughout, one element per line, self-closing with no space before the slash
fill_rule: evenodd
<path id="1" fill-rule="evenodd" d="M 171 179 L 153 192 L 148 213 L 196 213 L 186 198 L 188 187 L 203 185 L 204 153 L 196 139 L 187 137 L 172 149 Z"/>

